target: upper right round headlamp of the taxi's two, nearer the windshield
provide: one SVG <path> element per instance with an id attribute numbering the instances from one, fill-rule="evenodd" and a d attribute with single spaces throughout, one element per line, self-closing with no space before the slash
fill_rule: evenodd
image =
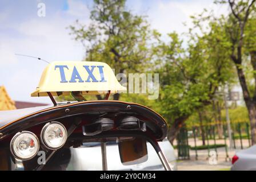
<path id="1" fill-rule="evenodd" d="M 67 140 L 67 130 L 62 123 L 49 122 L 41 131 L 42 143 L 52 150 L 61 148 Z"/>

